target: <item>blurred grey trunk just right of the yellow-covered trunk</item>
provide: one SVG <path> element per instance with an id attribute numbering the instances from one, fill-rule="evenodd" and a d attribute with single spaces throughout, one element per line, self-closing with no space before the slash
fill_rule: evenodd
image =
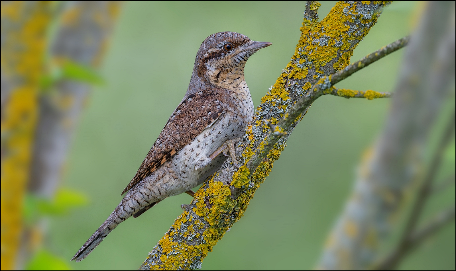
<path id="1" fill-rule="evenodd" d="M 49 52 L 49 85 L 39 97 L 29 191 L 52 201 L 62 179 L 72 135 L 106 51 L 119 1 L 68 1 Z M 41 246 L 46 217 L 24 231 L 21 257 Z M 35 237 L 32 237 L 35 236 Z"/>

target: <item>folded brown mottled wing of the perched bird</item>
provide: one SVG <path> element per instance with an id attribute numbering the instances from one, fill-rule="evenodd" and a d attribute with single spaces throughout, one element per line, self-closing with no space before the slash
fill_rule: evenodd
<path id="1" fill-rule="evenodd" d="M 181 148 L 191 143 L 204 128 L 215 122 L 224 107 L 232 102 L 227 100 L 230 98 L 225 93 L 217 89 L 209 89 L 185 97 L 174 110 L 135 177 L 131 179 L 122 194 L 154 172 Z"/>

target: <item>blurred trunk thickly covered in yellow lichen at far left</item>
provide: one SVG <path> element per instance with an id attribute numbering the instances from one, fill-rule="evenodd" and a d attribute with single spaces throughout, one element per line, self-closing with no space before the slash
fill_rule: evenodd
<path id="1" fill-rule="evenodd" d="M 1 2 L 1 269 L 15 268 L 51 20 L 48 1 Z"/>

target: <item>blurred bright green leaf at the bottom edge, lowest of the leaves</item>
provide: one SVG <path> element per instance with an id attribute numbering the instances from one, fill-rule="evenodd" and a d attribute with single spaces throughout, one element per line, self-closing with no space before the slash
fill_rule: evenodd
<path id="1" fill-rule="evenodd" d="M 62 258 L 47 250 L 40 250 L 27 264 L 26 270 L 71 270 L 71 268 Z"/>

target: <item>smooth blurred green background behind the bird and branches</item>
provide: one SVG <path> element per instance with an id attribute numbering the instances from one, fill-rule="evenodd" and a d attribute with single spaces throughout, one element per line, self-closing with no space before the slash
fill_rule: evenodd
<path id="1" fill-rule="evenodd" d="M 334 3 L 322 2 L 320 18 Z M 352 61 L 409 34 L 417 6 L 397 2 L 386 8 Z M 118 205 L 120 192 L 186 92 L 196 52 L 207 36 L 236 31 L 274 43 L 252 56 L 245 68 L 257 106 L 290 61 L 304 9 L 304 2 L 124 2 L 102 67 L 107 83 L 88 101 L 63 181 L 63 186 L 87 194 L 90 204 L 51 220 L 51 250 L 69 260 Z M 391 91 L 402 53 L 385 57 L 337 86 Z M 318 99 L 242 220 L 209 253 L 202 270 L 312 269 L 350 194 L 361 154 L 383 127 L 388 106 L 387 99 Z M 445 166 L 450 173 L 454 144 L 452 148 Z M 454 187 L 439 197 L 439 202 L 454 201 Z M 181 214 L 180 205 L 190 201 L 189 195 L 181 194 L 127 220 L 84 261 L 72 262 L 72 268 L 137 269 Z M 400 268 L 454 270 L 454 222 Z"/>

